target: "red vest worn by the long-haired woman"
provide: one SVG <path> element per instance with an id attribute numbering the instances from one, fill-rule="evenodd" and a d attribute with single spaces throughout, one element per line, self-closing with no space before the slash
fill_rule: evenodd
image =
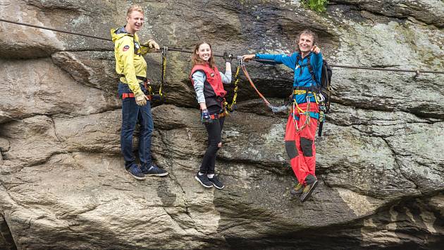
<path id="1" fill-rule="evenodd" d="M 204 97 L 207 106 L 214 104 L 221 105 L 223 97 L 226 95 L 226 91 L 223 90 L 223 83 L 221 74 L 216 66 L 211 69 L 208 64 L 196 64 L 190 74 L 192 85 L 195 85 L 192 81 L 192 74 L 196 71 L 202 71 L 205 73 L 206 80 L 204 83 Z M 216 100 L 217 103 L 214 101 Z"/>

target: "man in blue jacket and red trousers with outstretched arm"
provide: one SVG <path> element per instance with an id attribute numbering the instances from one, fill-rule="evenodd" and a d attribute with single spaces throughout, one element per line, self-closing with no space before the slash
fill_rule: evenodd
<path id="1" fill-rule="evenodd" d="M 317 36 L 303 30 L 297 37 L 297 52 L 292 54 L 247 54 L 242 58 L 272 60 L 295 71 L 293 78 L 292 108 L 285 129 L 285 150 L 298 184 L 292 194 L 300 194 L 307 201 L 318 184 L 315 175 L 316 147 L 314 136 L 319 120 L 319 101 L 323 97 L 318 88 L 321 82 L 322 54 L 316 44 Z"/>

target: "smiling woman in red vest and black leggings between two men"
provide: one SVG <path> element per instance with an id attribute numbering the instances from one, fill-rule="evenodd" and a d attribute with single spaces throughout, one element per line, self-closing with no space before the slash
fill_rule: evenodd
<path id="1" fill-rule="evenodd" d="M 192 71 L 190 74 L 192 85 L 196 90 L 196 99 L 200 106 L 202 123 L 208 132 L 208 148 L 204 154 L 202 165 L 195 179 L 202 186 L 223 189 L 222 182 L 214 174 L 216 153 L 222 147 L 221 132 L 225 120 L 223 100 L 226 91 L 223 83 L 231 83 L 230 58 L 226 59 L 226 71 L 221 73 L 214 64 L 211 45 L 208 42 L 198 42 L 192 54 Z"/>

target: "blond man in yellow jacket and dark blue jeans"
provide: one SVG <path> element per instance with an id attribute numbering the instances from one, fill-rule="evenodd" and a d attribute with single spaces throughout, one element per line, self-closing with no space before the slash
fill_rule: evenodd
<path id="1" fill-rule="evenodd" d="M 139 5 L 128 8 L 127 23 L 116 30 L 111 30 L 116 57 L 116 72 L 120 77 L 118 95 L 122 98 L 121 150 L 125 160 L 125 169 L 135 179 L 146 176 L 166 176 L 168 172 L 154 165 L 151 157 L 151 138 L 154 124 L 151 105 L 144 92 L 147 81 L 147 62 L 144 54 L 160 49 L 154 40 L 148 40 L 142 46 L 136 32 L 144 23 L 144 12 Z M 132 135 L 137 121 L 140 124 L 139 160 L 135 162 L 132 153 Z"/>

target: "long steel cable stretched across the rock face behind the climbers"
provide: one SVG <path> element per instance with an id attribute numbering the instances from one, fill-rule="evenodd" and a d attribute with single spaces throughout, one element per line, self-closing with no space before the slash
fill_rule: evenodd
<path id="1" fill-rule="evenodd" d="M 5 22 L 5 23 L 13 23 L 16 25 L 23 25 L 23 26 L 28 26 L 28 27 L 32 27 L 32 28 L 39 28 L 42 30 L 51 30 L 51 31 L 55 31 L 55 32 L 61 32 L 61 33 L 66 33 L 66 34 L 71 34 L 71 35 L 78 35 L 78 36 L 82 36 L 82 37 L 90 37 L 90 38 L 95 38 L 95 39 L 99 39 L 99 40 L 105 40 L 105 41 L 109 41 L 112 42 L 111 39 L 109 38 L 104 38 L 104 37 L 97 37 L 94 35 L 86 35 L 86 34 L 82 34 L 82 33 L 78 33 L 78 32 L 71 32 L 71 31 L 67 31 L 67 30 L 58 30 L 58 29 L 54 29 L 54 28 L 47 28 L 44 26 L 39 26 L 39 25 L 33 25 L 30 23 L 20 23 L 20 22 L 15 22 L 15 21 L 11 21 L 11 20 L 6 20 L 3 18 L 0 18 L 1 22 Z M 142 47 L 147 47 L 147 45 L 141 45 Z M 193 52 L 190 50 L 185 50 L 185 49 L 180 49 L 180 48 L 168 48 L 171 51 L 174 52 L 184 52 L 184 53 L 189 53 L 192 54 Z M 158 51 L 161 52 L 161 51 Z M 213 56 L 217 56 L 217 57 L 223 57 L 223 55 L 221 54 L 213 54 Z M 264 60 L 264 59 L 252 59 L 253 61 L 263 61 L 263 62 L 274 62 L 273 60 Z M 409 73 L 417 73 L 417 75 L 419 73 L 438 73 L 438 74 L 444 74 L 444 71 L 420 71 L 418 70 L 408 70 L 408 69 L 390 69 L 390 68 L 373 68 L 373 67 L 361 67 L 361 66 L 348 66 L 348 65 L 337 65 L 337 64 L 331 64 L 331 67 L 338 67 L 338 68 L 345 68 L 345 69 L 366 69 L 366 70 L 374 70 L 374 71 L 395 71 L 395 72 L 409 72 Z"/>

